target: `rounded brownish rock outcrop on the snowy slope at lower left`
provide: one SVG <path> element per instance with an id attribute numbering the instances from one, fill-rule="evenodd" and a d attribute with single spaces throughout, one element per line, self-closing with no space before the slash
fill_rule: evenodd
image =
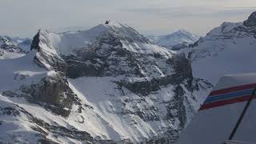
<path id="1" fill-rule="evenodd" d="M 29 102 L 50 109 L 54 114 L 68 117 L 73 104 L 82 105 L 77 95 L 70 89 L 67 79 L 60 74 L 42 78 L 37 84 L 22 86 Z"/>

